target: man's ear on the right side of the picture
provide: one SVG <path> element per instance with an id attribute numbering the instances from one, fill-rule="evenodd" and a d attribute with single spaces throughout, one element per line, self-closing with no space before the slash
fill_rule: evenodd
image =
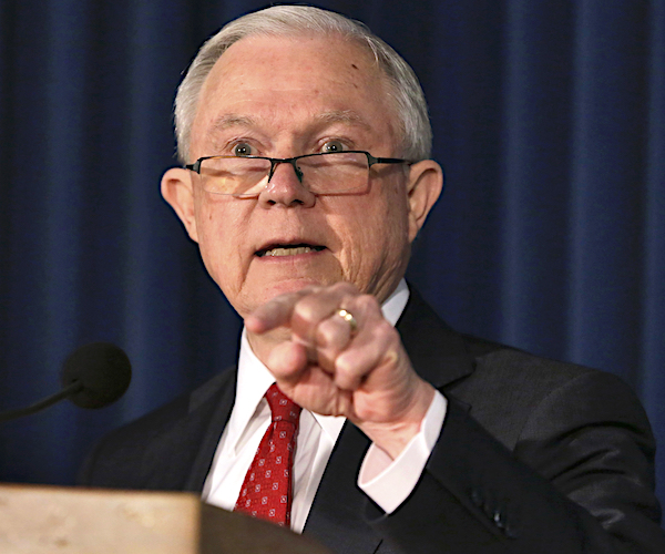
<path id="1" fill-rule="evenodd" d="M 443 170 L 433 160 L 423 160 L 410 167 L 407 185 L 409 202 L 409 240 L 413 242 L 424 219 L 443 189 Z"/>

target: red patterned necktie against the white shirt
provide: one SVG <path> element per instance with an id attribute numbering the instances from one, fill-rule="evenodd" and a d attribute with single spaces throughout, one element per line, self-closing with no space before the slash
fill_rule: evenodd
<path id="1" fill-rule="evenodd" d="M 301 408 L 277 387 L 265 396 L 273 422 L 264 434 L 245 475 L 235 509 L 283 526 L 290 526 L 291 468 Z"/>

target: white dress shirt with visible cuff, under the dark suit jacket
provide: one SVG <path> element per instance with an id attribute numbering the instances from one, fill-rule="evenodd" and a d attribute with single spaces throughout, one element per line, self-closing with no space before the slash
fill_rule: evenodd
<path id="1" fill-rule="evenodd" d="M 395 325 L 408 299 L 409 289 L 402 279 L 381 306 L 383 317 Z M 274 382 L 275 378 L 254 355 L 243 330 L 236 399 L 203 489 L 205 502 L 226 510 L 234 509 L 245 474 L 270 423 L 270 408 L 263 397 Z M 367 451 L 358 486 L 386 513 L 392 513 L 416 486 L 439 437 L 446 408 L 446 398 L 437 392 L 420 432 L 396 460 L 374 444 Z M 307 410 L 300 413 L 291 504 L 291 529 L 298 533 L 305 527 L 314 496 L 345 421 L 346 418 L 320 416 Z"/>

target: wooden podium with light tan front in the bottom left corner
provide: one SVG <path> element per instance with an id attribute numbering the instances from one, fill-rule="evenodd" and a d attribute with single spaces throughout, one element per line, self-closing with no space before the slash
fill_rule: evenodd
<path id="1" fill-rule="evenodd" d="M 0 484 L 3 554 L 331 554 L 193 493 Z"/>

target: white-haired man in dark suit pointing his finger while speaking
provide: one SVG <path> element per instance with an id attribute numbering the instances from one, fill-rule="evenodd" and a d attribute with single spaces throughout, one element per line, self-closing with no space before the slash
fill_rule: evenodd
<path id="1" fill-rule="evenodd" d="M 201 491 L 345 553 L 665 552 L 627 388 L 407 287 L 442 172 L 390 47 L 269 8 L 201 49 L 175 117 L 162 193 L 244 318 L 238 366 L 108 437 L 83 483 Z"/>

